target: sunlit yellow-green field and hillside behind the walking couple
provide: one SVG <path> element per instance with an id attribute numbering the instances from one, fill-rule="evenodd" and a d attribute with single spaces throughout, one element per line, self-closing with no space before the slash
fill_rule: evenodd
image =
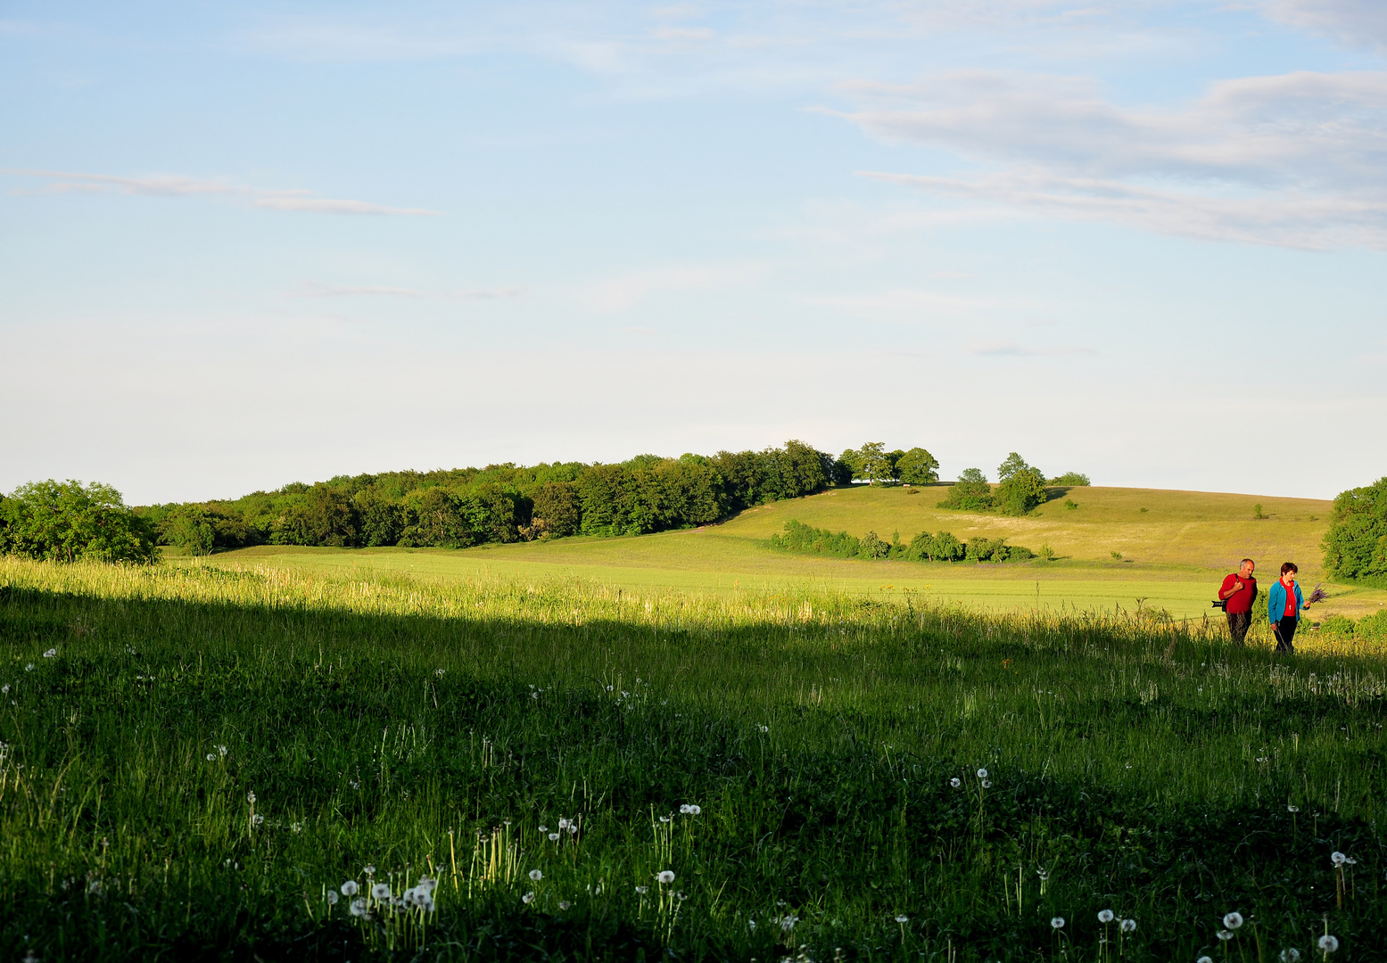
<path id="1" fill-rule="evenodd" d="M 796 587 L 850 593 L 915 592 L 994 610 L 1078 608 L 1112 611 L 1139 604 L 1178 618 L 1200 618 L 1223 572 L 1243 556 L 1262 575 L 1290 558 L 1302 579 L 1323 578 L 1319 542 L 1329 502 L 1252 495 L 1075 488 L 1025 518 L 946 511 L 935 504 L 947 486 L 853 488 L 778 502 L 721 525 L 638 538 L 570 538 L 479 549 L 298 549 L 262 546 L 214 556 L 205 564 L 288 565 L 341 572 L 358 569 L 431 576 L 480 574 L 520 578 L 578 578 L 631 587 L 691 592 Z M 1064 506 L 1065 497 L 1078 504 Z M 1269 515 L 1254 520 L 1254 506 Z M 1142 511 L 1146 509 L 1146 511 Z M 875 531 L 908 540 L 915 532 L 950 531 L 968 540 L 1006 536 L 1037 550 L 1050 545 L 1060 558 L 1006 565 L 849 561 L 788 556 L 764 540 L 785 522 L 863 535 Z M 1122 560 L 1114 560 L 1118 551 Z M 1322 614 L 1359 617 L 1387 600 L 1387 592 L 1340 587 Z"/>

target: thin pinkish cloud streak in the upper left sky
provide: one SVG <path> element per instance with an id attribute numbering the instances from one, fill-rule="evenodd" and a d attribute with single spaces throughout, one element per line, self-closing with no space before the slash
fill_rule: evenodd
<path id="1" fill-rule="evenodd" d="M 437 211 L 424 208 L 397 208 L 369 201 L 313 197 L 305 188 L 272 190 L 247 187 L 225 180 L 203 180 L 183 175 L 151 175 L 146 177 L 123 177 L 118 175 L 76 173 L 71 170 L 28 170 L 7 169 L 0 173 L 14 177 L 44 180 L 35 190 L 19 190 L 19 194 L 132 194 L 139 197 L 234 197 L 248 201 L 252 206 L 273 211 L 302 211 L 309 213 L 340 215 L 408 215 L 438 216 Z"/>

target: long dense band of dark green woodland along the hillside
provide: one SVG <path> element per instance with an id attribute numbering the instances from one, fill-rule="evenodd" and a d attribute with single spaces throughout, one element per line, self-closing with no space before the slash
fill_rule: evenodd
<path id="1" fill-rule="evenodd" d="M 229 502 L 141 509 L 164 545 L 467 547 L 565 535 L 645 535 L 813 495 L 843 475 L 799 441 L 763 452 L 337 477 Z"/>

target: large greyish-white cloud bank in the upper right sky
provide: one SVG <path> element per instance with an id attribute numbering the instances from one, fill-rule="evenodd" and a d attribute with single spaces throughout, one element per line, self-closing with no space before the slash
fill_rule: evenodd
<path id="1" fill-rule="evenodd" d="M 864 176 L 970 202 L 1184 237 L 1387 247 L 1387 73 L 1243 78 L 1183 109 L 1115 105 L 1072 78 L 957 72 L 853 85 L 878 137 L 949 148 L 971 176 Z"/>

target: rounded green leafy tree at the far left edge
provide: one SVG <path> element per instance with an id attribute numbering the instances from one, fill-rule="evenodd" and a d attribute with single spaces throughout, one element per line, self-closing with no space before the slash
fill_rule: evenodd
<path id="1" fill-rule="evenodd" d="M 0 549 L 31 558 L 147 563 L 158 558 L 154 525 L 110 485 L 42 481 L 0 500 Z"/>

